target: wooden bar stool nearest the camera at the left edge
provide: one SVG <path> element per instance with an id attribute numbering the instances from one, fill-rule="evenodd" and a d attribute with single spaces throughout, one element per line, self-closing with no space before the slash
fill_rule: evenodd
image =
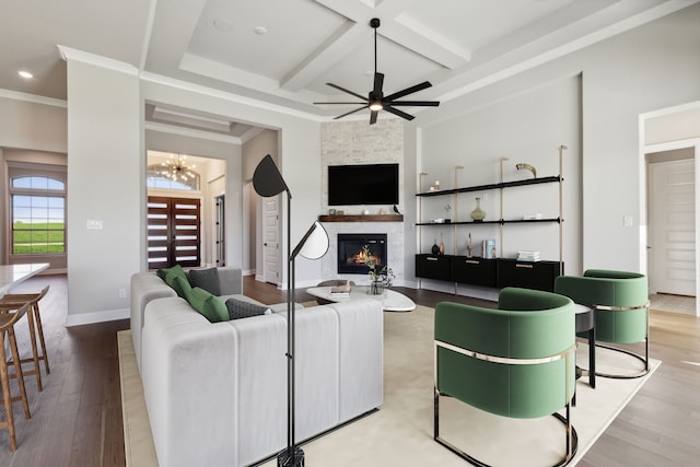
<path id="1" fill-rule="evenodd" d="M 11 374 L 8 370 L 8 358 L 4 349 L 4 339 L 8 337 L 10 343 L 10 352 L 12 354 L 12 362 L 20 360 L 20 352 L 18 351 L 18 341 L 14 336 L 14 324 L 25 314 L 30 308 L 30 304 L 25 303 L 19 310 L 12 306 L 0 305 L 0 385 L 2 385 L 2 402 L 7 413 L 5 420 L 0 421 L 0 429 L 5 428 L 10 434 L 10 448 L 16 451 L 18 441 L 14 433 L 14 418 L 12 415 L 12 402 L 22 401 L 24 408 L 24 417 L 28 420 L 30 404 L 26 399 L 26 389 L 24 387 L 24 375 L 22 374 L 22 365 L 15 364 L 14 374 Z M 12 397 L 10 392 L 10 378 L 16 377 L 20 384 L 20 396 Z"/>

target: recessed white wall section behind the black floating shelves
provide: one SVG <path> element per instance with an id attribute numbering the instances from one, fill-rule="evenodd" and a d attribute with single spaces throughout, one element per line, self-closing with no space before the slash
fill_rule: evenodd
<path id="1" fill-rule="evenodd" d="M 422 151 L 418 161 L 419 172 L 428 186 L 440 180 L 442 189 L 478 186 L 501 180 L 501 159 L 503 180 L 533 178 L 528 171 L 518 171 L 515 165 L 524 162 L 537 170 L 538 177 L 559 174 L 559 145 L 569 149 L 563 153 L 564 203 L 563 203 L 563 252 L 567 271 L 576 272 L 581 268 L 581 107 L 579 77 L 547 83 L 508 100 L 494 101 L 477 107 L 440 125 L 422 131 Z M 483 190 L 454 196 L 421 198 L 422 222 L 435 218 L 470 221 L 469 213 L 476 208 L 476 197 L 481 198 L 486 220 L 501 218 L 501 194 L 499 190 Z M 547 184 L 505 189 L 503 197 L 503 219 L 518 220 L 529 213 L 541 213 L 544 218 L 559 217 L 559 185 Z M 450 206 L 450 210 L 444 208 Z M 539 250 L 542 259 L 559 260 L 559 224 L 506 224 L 502 236 L 498 224 L 470 224 L 456 229 L 451 225 L 422 226 L 420 253 L 429 253 L 433 243 L 444 242 L 445 253 L 467 254 L 467 236 L 471 234 L 474 255 L 480 256 L 482 240 L 495 238 L 501 257 L 515 258 L 522 249 Z M 456 238 L 455 238 L 456 232 Z M 455 252 L 456 246 L 456 252 Z M 476 253 L 475 253 L 476 252 Z M 454 285 L 430 284 L 429 288 L 454 291 Z"/>

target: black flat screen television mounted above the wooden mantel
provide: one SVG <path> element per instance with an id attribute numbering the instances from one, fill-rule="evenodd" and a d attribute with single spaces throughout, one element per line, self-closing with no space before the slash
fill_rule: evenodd
<path id="1" fill-rule="evenodd" d="M 398 164 L 328 166 L 328 206 L 398 205 Z"/>

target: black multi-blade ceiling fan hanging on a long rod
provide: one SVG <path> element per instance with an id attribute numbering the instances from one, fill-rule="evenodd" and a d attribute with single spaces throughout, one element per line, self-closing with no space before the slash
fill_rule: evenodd
<path id="1" fill-rule="evenodd" d="M 362 107 L 355 108 L 354 110 L 350 110 L 346 114 L 339 115 L 337 117 L 334 118 L 334 120 L 337 120 L 338 118 L 342 118 L 346 117 L 350 114 L 354 114 L 355 112 L 360 112 L 363 108 L 369 108 L 370 109 L 370 125 L 374 125 L 376 124 L 376 117 L 380 113 L 380 110 L 386 110 L 390 114 L 397 115 L 401 118 L 405 118 L 407 120 L 412 120 L 415 117 L 412 115 L 409 115 L 402 110 L 399 110 L 398 108 L 395 107 L 399 107 L 399 106 L 410 106 L 410 107 L 438 107 L 440 105 L 440 102 L 438 101 L 397 101 L 400 97 L 404 97 L 408 94 L 412 94 L 416 93 L 418 91 L 422 91 L 427 87 L 432 86 L 432 84 L 430 84 L 429 81 L 423 81 L 420 84 L 416 84 L 413 86 L 410 87 L 406 87 L 402 91 L 396 92 L 394 94 L 389 94 L 387 96 L 384 95 L 383 92 L 383 85 L 384 85 L 384 74 L 383 73 L 377 73 L 376 71 L 376 30 L 377 27 L 380 27 L 380 20 L 377 17 L 372 19 L 372 21 L 370 21 L 370 26 L 372 26 L 374 28 L 374 89 L 372 91 L 370 91 L 370 94 L 368 97 L 364 97 L 361 94 L 354 93 L 352 91 L 349 91 L 345 87 L 341 87 L 337 84 L 332 84 L 332 83 L 326 83 L 331 87 L 335 87 L 339 91 L 342 91 L 345 93 L 348 93 L 350 95 L 353 95 L 360 100 L 362 100 L 362 102 L 315 102 L 314 104 L 364 104 L 362 105 Z"/>

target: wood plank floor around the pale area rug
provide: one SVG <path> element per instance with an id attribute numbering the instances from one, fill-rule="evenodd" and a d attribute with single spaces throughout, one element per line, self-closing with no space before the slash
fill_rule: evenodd
<path id="1" fill-rule="evenodd" d="M 33 278 L 16 291 L 36 291 L 46 283 L 50 284 L 50 291 L 40 306 L 51 373 L 44 377 L 42 393 L 37 392 L 34 377 L 27 377 L 32 418 L 24 420 L 21 405 L 14 405 L 19 450 L 15 453 L 10 451 L 7 430 L 0 430 L 0 466 L 122 467 L 116 332 L 127 329 L 129 322 L 66 328 L 65 277 Z M 443 300 L 493 305 L 439 292 L 395 290 L 425 306 L 434 306 Z M 283 291 L 252 278 L 245 279 L 244 292 L 268 304 L 285 300 Z M 296 300 L 304 302 L 313 297 L 300 291 Z M 700 318 L 687 314 L 652 313 L 651 353 L 663 361 L 661 369 L 579 466 L 698 465 Z M 598 384 L 615 382 L 598 378 Z M 4 419 L 2 409 L 0 417 Z"/>

